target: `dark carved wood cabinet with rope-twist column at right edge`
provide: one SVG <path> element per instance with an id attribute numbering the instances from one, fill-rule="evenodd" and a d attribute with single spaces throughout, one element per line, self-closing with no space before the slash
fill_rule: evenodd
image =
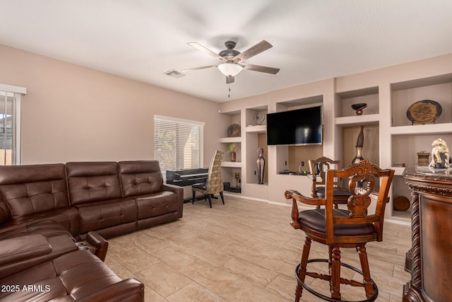
<path id="1" fill-rule="evenodd" d="M 405 269 L 411 280 L 403 301 L 452 301 L 452 170 L 410 166 L 412 248 Z"/>

